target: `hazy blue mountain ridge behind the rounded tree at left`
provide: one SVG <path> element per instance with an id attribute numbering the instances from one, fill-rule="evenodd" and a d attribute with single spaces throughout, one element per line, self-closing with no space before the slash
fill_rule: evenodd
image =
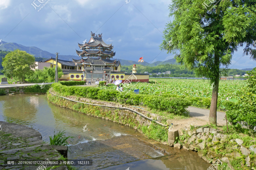
<path id="1" fill-rule="evenodd" d="M 51 58 L 55 57 L 56 54 L 49 53 L 48 51 L 44 51 L 38 47 L 26 47 L 21 44 L 17 43 L 7 43 L 2 41 L 2 45 L 0 46 L 0 49 L 3 51 L 13 51 L 15 49 L 20 49 L 22 51 L 26 51 L 27 53 L 34 55 L 34 57 L 41 57 L 41 58 Z M 69 60 L 72 61 L 72 58 L 79 59 L 77 55 L 59 55 L 59 59 L 61 60 Z"/>

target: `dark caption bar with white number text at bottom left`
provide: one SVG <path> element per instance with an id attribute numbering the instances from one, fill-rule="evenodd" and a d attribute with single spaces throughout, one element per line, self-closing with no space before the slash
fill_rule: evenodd
<path id="1" fill-rule="evenodd" d="M 23 165 L 23 166 L 36 166 L 36 165 L 44 165 L 46 166 L 59 166 L 59 165 L 71 165 L 71 166 L 92 166 L 91 159 L 71 159 L 68 161 L 63 160 L 31 160 L 31 159 L 19 159 L 15 161 L 5 161 L 7 165 Z"/>

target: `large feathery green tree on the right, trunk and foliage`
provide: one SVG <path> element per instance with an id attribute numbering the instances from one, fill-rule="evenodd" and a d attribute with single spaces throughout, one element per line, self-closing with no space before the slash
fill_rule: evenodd
<path id="1" fill-rule="evenodd" d="M 251 48 L 256 40 L 255 1 L 172 0 L 169 9 L 169 17 L 174 19 L 166 25 L 160 48 L 176 54 L 183 68 L 214 83 L 209 123 L 216 125 L 219 78 L 227 71 L 234 51 L 245 45 L 243 55 L 256 59 Z"/>

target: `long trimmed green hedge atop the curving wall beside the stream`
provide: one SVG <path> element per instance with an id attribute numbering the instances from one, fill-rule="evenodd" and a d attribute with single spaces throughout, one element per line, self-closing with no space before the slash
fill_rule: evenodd
<path id="1" fill-rule="evenodd" d="M 159 111 L 167 111 L 174 114 L 187 114 L 186 108 L 191 102 L 181 97 L 163 97 L 156 95 L 134 94 L 133 92 L 118 92 L 112 89 L 102 89 L 95 87 L 68 87 L 61 83 L 53 83 L 52 87 L 55 91 L 67 96 L 77 95 L 91 99 L 99 99 L 104 101 L 117 101 L 129 105 L 142 105 L 150 109 Z"/>

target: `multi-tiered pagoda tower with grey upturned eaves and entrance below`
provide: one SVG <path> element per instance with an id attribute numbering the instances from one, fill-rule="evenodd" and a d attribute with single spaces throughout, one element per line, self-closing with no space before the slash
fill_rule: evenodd
<path id="1" fill-rule="evenodd" d="M 80 50 L 77 55 L 81 59 L 73 59 L 73 62 L 79 68 L 82 68 L 84 78 L 95 82 L 97 78 L 103 78 L 109 81 L 111 72 L 118 72 L 121 70 L 120 61 L 111 60 L 115 56 L 112 44 L 106 44 L 102 40 L 102 34 L 95 34 L 91 32 L 91 38 L 87 43 L 86 40 L 83 44 L 78 43 Z"/>

